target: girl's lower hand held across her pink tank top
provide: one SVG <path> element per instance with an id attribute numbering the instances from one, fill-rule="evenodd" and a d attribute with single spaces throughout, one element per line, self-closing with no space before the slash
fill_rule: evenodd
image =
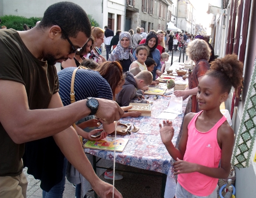
<path id="1" fill-rule="evenodd" d="M 198 164 L 190 163 L 184 160 L 180 160 L 177 158 L 177 161 L 174 162 L 174 175 L 196 172 L 198 168 Z"/>

